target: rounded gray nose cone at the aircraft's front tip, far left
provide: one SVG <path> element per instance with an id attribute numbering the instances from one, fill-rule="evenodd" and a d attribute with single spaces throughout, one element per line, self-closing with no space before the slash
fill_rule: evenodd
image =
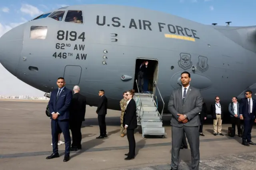
<path id="1" fill-rule="evenodd" d="M 0 63 L 16 75 L 23 46 L 24 26 L 20 25 L 0 37 Z"/>

